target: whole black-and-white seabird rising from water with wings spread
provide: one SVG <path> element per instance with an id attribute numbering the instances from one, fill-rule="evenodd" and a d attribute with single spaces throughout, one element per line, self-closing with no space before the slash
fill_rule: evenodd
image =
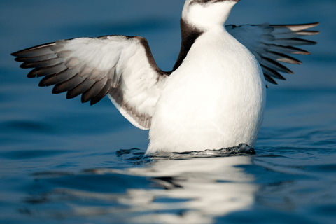
<path id="1" fill-rule="evenodd" d="M 55 85 L 52 93 L 81 94 L 96 104 L 106 94 L 134 126 L 149 131 L 147 153 L 218 150 L 255 145 L 266 103 L 266 84 L 293 73 L 280 62 L 308 55 L 296 45 L 318 23 L 226 25 L 239 0 L 186 0 L 181 51 L 172 71 L 158 68 L 146 38 L 73 38 L 14 52 L 28 77 Z"/>

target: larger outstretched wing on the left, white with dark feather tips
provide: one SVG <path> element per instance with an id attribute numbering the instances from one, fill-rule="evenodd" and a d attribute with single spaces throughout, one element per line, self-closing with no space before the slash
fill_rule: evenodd
<path id="1" fill-rule="evenodd" d="M 156 65 L 146 38 L 102 36 L 56 41 L 14 52 L 15 60 L 31 69 L 28 77 L 44 78 L 39 86 L 55 85 L 52 93 L 99 102 L 109 94 L 130 122 L 151 127 L 155 104 L 169 73 Z"/>

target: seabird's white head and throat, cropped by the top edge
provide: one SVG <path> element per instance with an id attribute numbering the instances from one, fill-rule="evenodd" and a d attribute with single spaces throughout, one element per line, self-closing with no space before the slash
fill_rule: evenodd
<path id="1" fill-rule="evenodd" d="M 239 0 L 186 0 L 182 19 L 195 27 L 223 26 Z"/>

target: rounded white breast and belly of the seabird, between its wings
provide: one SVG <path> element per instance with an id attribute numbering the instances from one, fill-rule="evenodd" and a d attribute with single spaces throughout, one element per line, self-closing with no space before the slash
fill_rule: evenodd
<path id="1" fill-rule="evenodd" d="M 265 80 L 251 52 L 225 29 L 207 31 L 166 83 L 148 153 L 254 146 L 265 98 Z"/>

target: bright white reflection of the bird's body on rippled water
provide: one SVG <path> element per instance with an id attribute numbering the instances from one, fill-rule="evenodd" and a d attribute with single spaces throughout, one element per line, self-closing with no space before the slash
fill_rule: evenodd
<path id="1" fill-rule="evenodd" d="M 127 203 L 137 211 L 161 211 L 146 216 L 146 222 L 211 223 L 212 218 L 231 211 L 249 209 L 258 186 L 253 174 L 244 173 L 241 165 L 253 164 L 250 156 L 193 158 L 190 160 L 157 160 L 145 168 L 128 169 L 127 174 L 148 176 L 166 190 L 130 189 Z M 144 203 L 139 198 L 144 198 Z M 148 199 L 151 202 L 148 203 Z M 182 202 L 155 202 L 155 199 L 179 199 Z M 162 214 L 180 209 L 181 214 Z M 187 215 L 188 214 L 188 215 Z M 193 214 L 193 216 L 191 216 Z M 189 217 L 190 220 L 187 220 Z M 145 218 L 145 217 L 143 217 Z M 194 219 L 195 218 L 195 219 Z"/>

